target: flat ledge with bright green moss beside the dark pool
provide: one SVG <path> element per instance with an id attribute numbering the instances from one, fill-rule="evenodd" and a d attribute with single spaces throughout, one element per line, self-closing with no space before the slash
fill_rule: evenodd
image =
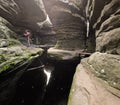
<path id="1" fill-rule="evenodd" d="M 25 46 L 11 46 L 0 48 L 0 73 L 13 69 L 35 56 L 41 56 L 43 50 L 40 48 L 27 48 Z"/>

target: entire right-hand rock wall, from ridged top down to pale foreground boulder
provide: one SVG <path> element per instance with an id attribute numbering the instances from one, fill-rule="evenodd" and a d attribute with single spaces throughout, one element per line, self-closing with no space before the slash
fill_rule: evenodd
<path id="1" fill-rule="evenodd" d="M 94 9 L 89 22 L 97 52 L 78 65 L 68 105 L 119 105 L 120 1 L 91 0 L 91 4 Z"/>

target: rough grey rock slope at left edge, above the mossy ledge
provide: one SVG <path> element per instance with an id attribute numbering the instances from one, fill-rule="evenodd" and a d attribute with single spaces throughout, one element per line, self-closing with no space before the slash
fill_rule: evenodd
<path id="1" fill-rule="evenodd" d="M 0 48 L 19 44 L 19 37 L 12 31 L 14 27 L 4 18 L 0 17 Z"/>

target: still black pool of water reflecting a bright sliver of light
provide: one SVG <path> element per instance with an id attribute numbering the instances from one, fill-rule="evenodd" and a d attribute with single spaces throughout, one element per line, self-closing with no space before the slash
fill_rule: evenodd
<path id="1" fill-rule="evenodd" d="M 44 61 L 45 66 L 38 68 L 43 65 L 43 62 L 39 57 L 33 59 L 27 65 L 19 67 L 11 75 L 2 76 L 2 80 L 0 79 L 0 104 L 66 105 L 78 62 L 59 63 L 47 60 Z M 44 70 L 51 72 L 48 83 L 48 77 Z"/>

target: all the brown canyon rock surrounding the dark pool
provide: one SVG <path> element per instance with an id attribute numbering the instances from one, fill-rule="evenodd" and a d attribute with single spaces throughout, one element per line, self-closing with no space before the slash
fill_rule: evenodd
<path id="1" fill-rule="evenodd" d="M 42 52 L 25 50 L 30 29 L 55 60 L 96 52 L 78 65 L 68 105 L 120 105 L 120 0 L 1 0 L 0 16 L 0 64 Z"/>

